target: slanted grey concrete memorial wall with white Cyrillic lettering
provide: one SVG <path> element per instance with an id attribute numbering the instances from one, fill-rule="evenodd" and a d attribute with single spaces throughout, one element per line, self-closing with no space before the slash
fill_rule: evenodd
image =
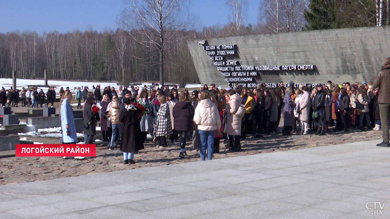
<path id="1" fill-rule="evenodd" d="M 201 84 L 255 87 L 373 81 L 390 57 L 390 27 L 190 39 Z"/>

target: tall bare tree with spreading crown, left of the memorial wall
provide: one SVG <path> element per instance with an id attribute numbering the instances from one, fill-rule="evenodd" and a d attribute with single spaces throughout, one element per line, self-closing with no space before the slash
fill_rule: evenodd
<path id="1" fill-rule="evenodd" d="M 164 84 L 164 54 L 176 32 L 190 27 L 185 0 L 125 0 L 119 25 L 145 47 L 154 46 L 159 53 L 160 83 Z M 135 30 L 135 31 L 132 31 Z M 140 35 L 142 37 L 140 37 Z M 149 44 L 151 42 L 151 44 Z"/>

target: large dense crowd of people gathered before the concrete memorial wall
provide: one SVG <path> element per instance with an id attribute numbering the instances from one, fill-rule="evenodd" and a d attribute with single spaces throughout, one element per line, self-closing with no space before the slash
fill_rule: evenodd
<path id="1" fill-rule="evenodd" d="M 238 84 L 234 88 L 219 89 L 210 84 L 191 93 L 187 89 L 178 92 L 177 86 L 163 90 L 159 85 L 152 87 L 150 95 L 145 85 L 138 90 L 137 87 L 119 87 L 115 91 L 113 87 L 106 87 L 103 96 L 97 86 L 94 93 L 88 92 L 84 98 L 84 141 L 93 142 L 96 121 L 101 120 L 103 138 L 110 140 L 107 147 L 112 149 L 119 140 L 125 164 L 135 163 L 134 154 L 144 148 L 147 134 L 151 134 L 156 146 L 161 148 L 168 146 L 167 140 L 179 141 L 180 159 L 187 155 L 185 149 L 190 140 L 193 148 L 199 148 L 200 159 L 204 161 L 219 152 L 221 140 L 227 143 L 225 147 L 230 152 L 239 152 L 241 140 L 278 132 L 280 119 L 284 118 L 283 136 L 294 132 L 325 135 L 330 132 L 329 127 L 334 127 L 332 132 L 349 132 L 350 128 L 364 131 L 367 127 L 382 130 L 383 142 L 377 146 L 390 147 L 389 86 L 390 58 L 386 58 L 375 81 L 367 83 L 338 85 L 328 81 L 308 87 L 290 81 L 288 85 L 280 82 L 276 88 L 267 88 L 263 83 L 253 89 Z M 71 93 L 66 92 L 64 99 L 70 101 L 69 98 Z M 100 111 L 94 110 L 97 102 L 101 102 Z M 69 130 L 74 125 L 69 125 L 72 121 L 68 119 L 73 115 L 67 115 L 65 110 L 62 113 L 62 106 L 68 105 L 61 105 L 63 133 L 68 136 L 63 141 L 74 143 L 76 133 Z M 140 112 L 140 108 L 144 111 Z"/>

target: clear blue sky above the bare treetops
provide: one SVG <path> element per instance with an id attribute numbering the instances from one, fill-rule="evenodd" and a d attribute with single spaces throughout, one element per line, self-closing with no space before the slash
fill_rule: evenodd
<path id="1" fill-rule="evenodd" d="M 248 0 L 245 24 L 257 23 L 260 0 Z M 123 0 L 0 0 L 0 32 L 35 31 L 38 34 L 57 30 L 115 30 Z M 199 16 L 197 25 L 226 24 L 230 9 L 225 0 L 193 0 L 191 11 Z"/>

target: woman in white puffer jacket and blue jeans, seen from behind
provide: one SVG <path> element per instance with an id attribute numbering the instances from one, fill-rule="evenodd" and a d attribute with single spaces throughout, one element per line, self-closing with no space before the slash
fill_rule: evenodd
<path id="1" fill-rule="evenodd" d="M 221 119 L 218 113 L 218 108 L 211 101 L 210 93 L 206 90 L 200 95 L 200 102 L 195 109 L 194 122 L 198 125 L 200 138 L 200 160 L 213 158 L 215 130 L 221 128 Z"/>

